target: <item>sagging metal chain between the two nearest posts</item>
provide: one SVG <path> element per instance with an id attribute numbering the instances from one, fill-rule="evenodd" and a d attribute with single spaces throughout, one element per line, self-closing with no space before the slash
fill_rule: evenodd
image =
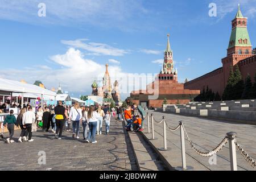
<path id="1" fill-rule="evenodd" d="M 215 147 L 212 151 L 209 151 L 209 152 L 204 152 L 204 151 L 200 151 L 198 148 L 196 148 L 195 144 L 191 141 L 191 139 L 188 137 L 188 133 L 187 131 L 185 130 L 185 126 L 184 124 L 182 124 L 182 127 L 183 127 L 183 130 L 184 130 L 184 133 L 188 139 L 188 142 L 189 144 L 191 145 L 192 149 L 199 155 L 201 156 L 204 156 L 204 157 L 209 157 L 209 156 L 212 156 L 214 154 L 216 154 L 217 152 L 219 152 L 224 146 L 226 143 L 228 143 L 228 137 L 225 137 L 221 142 L 220 144 L 218 144 L 217 147 Z"/>

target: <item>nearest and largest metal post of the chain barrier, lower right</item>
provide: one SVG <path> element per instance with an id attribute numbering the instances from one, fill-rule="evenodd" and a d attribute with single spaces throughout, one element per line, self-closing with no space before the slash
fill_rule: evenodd
<path id="1" fill-rule="evenodd" d="M 226 135 L 228 135 L 229 139 L 229 155 L 230 155 L 230 168 L 231 171 L 237 171 L 237 153 L 236 153 L 236 144 L 235 139 L 236 139 L 236 134 L 235 132 L 229 132 Z"/>

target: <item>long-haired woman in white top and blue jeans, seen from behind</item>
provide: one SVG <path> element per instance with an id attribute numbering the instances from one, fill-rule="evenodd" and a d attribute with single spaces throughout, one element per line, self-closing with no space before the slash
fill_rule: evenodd
<path id="1" fill-rule="evenodd" d="M 91 140 L 92 143 L 97 143 L 96 141 L 96 130 L 97 130 L 97 121 L 100 118 L 100 114 L 95 111 L 95 106 L 90 106 L 88 111 L 88 122 L 89 122 L 89 134 L 86 142 Z"/>

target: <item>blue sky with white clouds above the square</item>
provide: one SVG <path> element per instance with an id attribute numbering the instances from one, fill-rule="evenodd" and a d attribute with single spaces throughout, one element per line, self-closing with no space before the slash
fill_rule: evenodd
<path id="1" fill-rule="evenodd" d="M 122 99 L 159 73 L 170 34 L 179 82 L 222 66 L 241 4 L 256 41 L 256 0 L 0 0 L 0 77 L 59 83 L 72 97 L 92 92 L 105 64 Z M 41 6 L 45 5 L 45 15 Z M 209 16 L 216 5 L 216 16 Z M 138 84 L 137 78 L 146 77 Z M 127 81 L 129 80 L 129 81 Z M 128 88 L 129 87 L 129 88 Z"/>

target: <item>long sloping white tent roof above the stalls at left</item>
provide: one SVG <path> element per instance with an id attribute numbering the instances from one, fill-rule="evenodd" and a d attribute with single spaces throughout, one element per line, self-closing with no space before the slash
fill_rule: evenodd
<path id="1" fill-rule="evenodd" d="M 55 92 L 41 88 L 40 86 L 26 84 L 19 81 L 8 80 L 0 78 L 0 90 L 9 91 L 14 93 L 32 93 L 32 94 L 43 94 L 46 96 L 56 96 Z"/>

